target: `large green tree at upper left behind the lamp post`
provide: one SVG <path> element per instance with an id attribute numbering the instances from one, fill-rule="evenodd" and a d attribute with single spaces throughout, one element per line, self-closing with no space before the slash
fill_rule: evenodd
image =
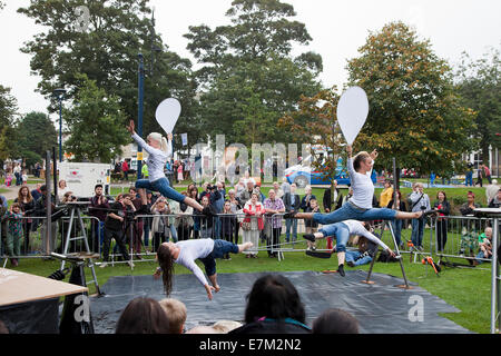
<path id="1" fill-rule="evenodd" d="M 82 14 L 76 10 L 80 6 L 89 10 L 88 22 L 79 22 Z M 155 109 L 169 97 L 183 105 L 180 126 L 193 122 L 190 106 L 196 86 L 191 82 L 191 63 L 169 51 L 153 31 L 147 0 L 33 0 L 18 12 L 47 28 L 21 50 L 32 56 L 31 70 L 41 78 L 37 90 L 52 100 L 51 110 L 57 108 L 53 89 L 65 87 L 67 97 L 73 98 L 79 90 L 78 75 L 85 73 L 108 95 L 119 98 L 125 121 L 137 118 L 138 53 L 143 53 L 144 132 L 160 130 Z"/>

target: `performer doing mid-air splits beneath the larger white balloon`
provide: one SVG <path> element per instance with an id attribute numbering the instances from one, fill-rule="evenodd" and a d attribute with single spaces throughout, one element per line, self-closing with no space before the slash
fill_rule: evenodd
<path id="1" fill-rule="evenodd" d="M 284 218 L 313 219 L 314 221 L 327 225 L 340 222 L 347 219 L 362 221 L 369 220 L 394 220 L 394 219 L 418 219 L 422 216 L 433 215 L 433 210 L 429 211 L 396 211 L 389 208 L 373 208 L 372 198 L 374 196 L 374 185 L 371 180 L 372 167 L 377 157 L 374 149 L 371 154 L 366 151 L 358 152 L 352 159 L 352 147 L 346 146 L 347 151 L 347 169 L 350 175 L 351 187 L 353 188 L 353 197 L 345 202 L 340 209 L 328 212 L 287 212 Z"/>

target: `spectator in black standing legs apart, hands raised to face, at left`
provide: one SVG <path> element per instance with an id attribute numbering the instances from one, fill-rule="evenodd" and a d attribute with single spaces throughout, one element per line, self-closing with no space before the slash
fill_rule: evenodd
<path id="1" fill-rule="evenodd" d="M 110 204 L 110 212 L 105 219 L 105 240 L 102 243 L 102 263 L 99 267 L 105 268 L 108 266 L 109 261 L 109 246 L 111 243 L 111 238 L 115 238 L 115 241 L 118 245 L 118 249 L 124 258 L 127 260 L 127 264 L 134 268 L 134 264 L 129 258 L 129 254 L 127 253 L 126 247 L 126 224 L 134 224 L 128 221 L 132 219 L 132 214 L 136 211 L 132 201 L 130 200 L 130 195 L 121 195 L 117 196 L 117 199 Z"/>

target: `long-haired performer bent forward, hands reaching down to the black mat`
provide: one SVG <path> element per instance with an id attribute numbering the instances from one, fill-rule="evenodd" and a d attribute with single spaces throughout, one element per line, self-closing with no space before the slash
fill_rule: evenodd
<path id="1" fill-rule="evenodd" d="M 169 296 L 173 289 L 174 264 L 183 265 L 195 274 L 205 287 L 207 297 L 212 300 L 213 290 L 216 293 L 220 290 L 217 284 L 216 258 L 223 258 L 228 253 L 239 254 L 250 247 L 253 247 L 253 243 L 235 245 L 220 239 L 213 240 L 212 238 L 184 240 L 176 244 L 164 243 L 157 251 L 157 259 L 160 267 L 157 268 L 154 277 L 159 278 L 161 275 L 165 293 Z M 212 286 L 208 285 L 204 273 L 195 263 L 197 258 L 204 264 Z"/>

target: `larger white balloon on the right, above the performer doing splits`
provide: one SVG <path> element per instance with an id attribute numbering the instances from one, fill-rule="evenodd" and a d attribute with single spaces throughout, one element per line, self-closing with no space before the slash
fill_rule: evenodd
<path id="1" fill-rule="evenodd" d="M 340 98 L 337 122 L 348 145 L 353 145 L 369 115 L 369 100 L 364 89 L 352 87 Z"/>

